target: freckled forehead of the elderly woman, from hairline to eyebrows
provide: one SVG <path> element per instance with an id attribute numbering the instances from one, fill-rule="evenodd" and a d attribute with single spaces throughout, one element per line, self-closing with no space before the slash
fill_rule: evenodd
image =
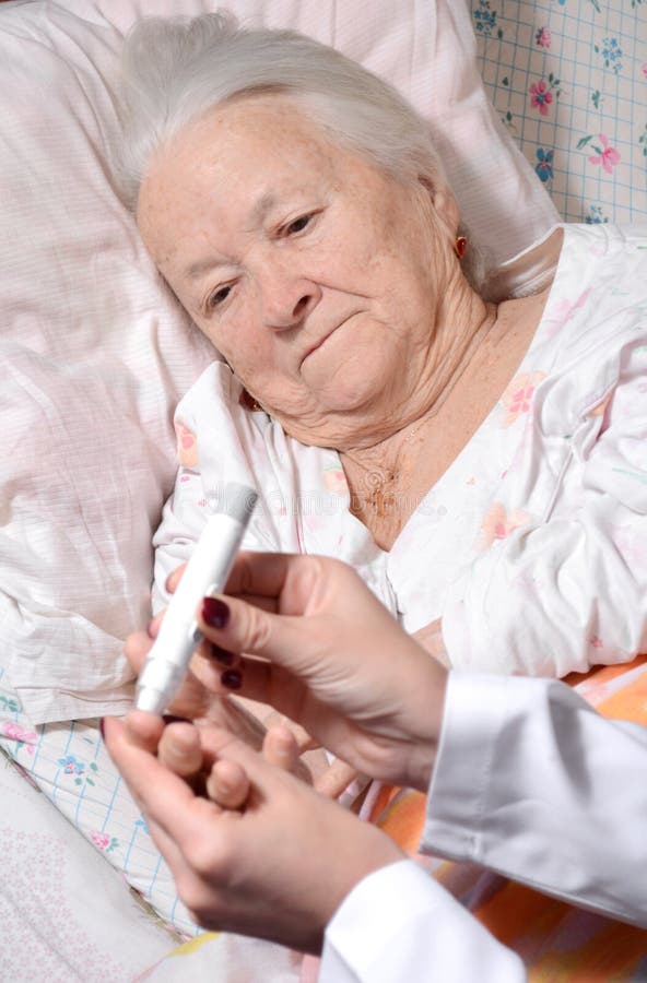
<path id="1" fill-rule="evenodd" d="M 198 222 L 200 210 L 208 208 L 252 224 L 283 197 L 343 183 L 366 167 L 336 146 L 294 99 L 283 94 L 238 98 L 156 152 L 142 182 L 138 224 L 155 256 L 152 240 L 173 238 L 178 217 Z"/>

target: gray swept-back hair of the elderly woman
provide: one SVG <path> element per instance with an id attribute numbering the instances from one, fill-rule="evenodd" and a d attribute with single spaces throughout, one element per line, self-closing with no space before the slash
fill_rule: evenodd
<path id="1" fill-rule="evenodd" d="M 207 13 L 145 17 L 126 39 L 117 179 L 128 206 L 137 208 L 160 146 L 217 105 L 266 92 L 290 95 L 332 143 L 396 180 L 449 187 L 428 125 L 391 85 L 296 32 L 242 28 L 227 13 Z M 472 282 L 474 259 L 472 251 Z"/>

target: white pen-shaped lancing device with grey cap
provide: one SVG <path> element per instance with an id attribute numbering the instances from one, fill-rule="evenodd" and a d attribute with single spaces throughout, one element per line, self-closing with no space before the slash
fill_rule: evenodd
<path id="1" fill-rule="evenodd" d="M 139 677 L 138 710 L 163 713 L 173 702 L 202 641 L 196 608 L 202 597 L 223 591 L 257 498 L 248 485 L 222 486 Z"/>

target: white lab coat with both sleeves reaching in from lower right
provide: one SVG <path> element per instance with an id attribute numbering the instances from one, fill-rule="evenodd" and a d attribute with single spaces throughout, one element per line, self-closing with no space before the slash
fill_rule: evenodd
<path id="1" fill-rule="evenodd" d="M 647 729 L 553 679 L 450 673 L 421 850 L 647 928 Z M 412 861 L 331 920 L 321 983 L 521 981 L 518 957 Z"/>

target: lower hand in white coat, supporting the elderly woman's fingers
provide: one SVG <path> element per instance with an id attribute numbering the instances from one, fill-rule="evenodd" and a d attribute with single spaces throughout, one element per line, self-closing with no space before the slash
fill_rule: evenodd
<path id="1" fill-rule="evenodd" d="M 161 729 L 160 718 L 142 715 Z M 108 750 L 179 897 L 207 928 L 319 952 L 327 923 L 352 888 L 404 855 L 378 829 L 231 734 L 209 724 L 197 731 L 211 772 L 219 767 L 247 782 L 243 809 L 197 794 L 164 766 L 154 741 L 142 747 L 125 723 L 104 721 Z"/>

